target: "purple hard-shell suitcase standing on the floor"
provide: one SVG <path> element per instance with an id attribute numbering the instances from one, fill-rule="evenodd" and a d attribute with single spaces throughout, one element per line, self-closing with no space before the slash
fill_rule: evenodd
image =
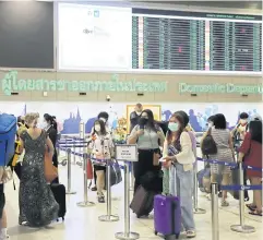
<path id="1" fill-rule="evenodd" d="M 181 231 L 181 207 L 179 197 L 172 195 L 156 195 L 154 197 L 155 235 L 164 238 L 175 235 L 178 239 Z"/>

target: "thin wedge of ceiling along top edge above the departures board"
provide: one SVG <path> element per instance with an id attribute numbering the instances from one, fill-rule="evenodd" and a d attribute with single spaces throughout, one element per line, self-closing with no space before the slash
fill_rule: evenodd
<path id="1" fill-rule="evenodd" d="M 156 4 L 176 4 L 176 5 L 196 5 L 196 7 L 208 7 L 208 8 L 231 8 L 231 9 L 250 9 L 250 10 L 262 10 L 262 1 L 250 1 L 250 0 L 241 0 L 241 1 L 154 1 L 154 0 L 130 0 L 130 2 L 148 2 Z"/>

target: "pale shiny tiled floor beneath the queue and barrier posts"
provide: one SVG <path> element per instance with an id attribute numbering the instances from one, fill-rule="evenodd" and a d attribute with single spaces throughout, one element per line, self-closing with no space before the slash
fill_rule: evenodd
<path id="1" fill-rule="evenodd" d="M 49 228 L 32 229 L 17 225 L 17 193 L 12 182 L 7 184 L 7 211 L 9 221 L 9 233 L 11 240 L 113 240 L 115 233 L 123 230 L 123 182 L 112 188 L 112 214 L 118 214 L 120 220 L 117 223 L 101 223 L 98 216 L 106 213 L 106 204 L 96 203 L 95 206 L 82 208 L 76 203 L 83 201 L 83 177 L 82 168 L 72 165 L 72 189 L 75 195 L 68 195 L 68 213 L 64 223 L 55 223 Z M 67 185 L 67 166 L 60 167 L 61 182 Z M 91 201 L 96 202 L 96 195 L 88 192 Z M 206 209 L 206 214 L 195 215 L 198 236 L 196 240 L 212 240 L 211 233 L 211 202 L 202 194 L 199 196 L 200 207 Z M 136 219 L 131 214 L 131 230 L 140 233 L 140 239 L 160 239 L 154 235 L 153 217 L 150 219 Z M 238 202 L 230 201 L 230 206 L 219 208 L 219 239 L 253 239 L 260 240 L 263 236 L 262 221 L 260 217 L 253 217 L 246 213 L 246 224 L 255 227 L 254 233 L 244 235 L 230 230 L 230 226 L 239 223 Z M 183 239 L 183 236 L 181 237 Z"/>

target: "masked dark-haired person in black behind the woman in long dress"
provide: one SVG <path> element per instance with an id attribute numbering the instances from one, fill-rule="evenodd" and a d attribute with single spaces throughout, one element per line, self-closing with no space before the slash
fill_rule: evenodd
<path id="1" fill-rule="evenodd" d="M 56 149 L 56 144 L 58 140 L 58 131 L 57 131 L 57 122 L 55 121 L 53 117 L 51 117 L 48 113 L 44 115 L 44 122 L 43 122 L 43 129 L 48 134 L 49 139 L 51 140 L 53 144 L 53 156 L 52 156 L 52 163 L 56 168 L 58 168 L 58 154 Z M 59 183 L 59 178 L 55 179 L 52 183 Z"/>

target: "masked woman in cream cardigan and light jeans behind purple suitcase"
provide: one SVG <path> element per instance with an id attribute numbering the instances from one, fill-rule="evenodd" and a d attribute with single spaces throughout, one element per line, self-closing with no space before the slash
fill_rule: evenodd
<path id="1" fill-rule="evenodd" d="M 180 197 L 182 231 L 188 238 L 195 237 L 193 219 L 193 163 L 195 161 L 192 141 L 186 130 L 189 118 L 182 111 L 175 112 L 169 120 L 169 131 L 164 144 L 164 159 L 170 169 L 169 193 Z"/>

